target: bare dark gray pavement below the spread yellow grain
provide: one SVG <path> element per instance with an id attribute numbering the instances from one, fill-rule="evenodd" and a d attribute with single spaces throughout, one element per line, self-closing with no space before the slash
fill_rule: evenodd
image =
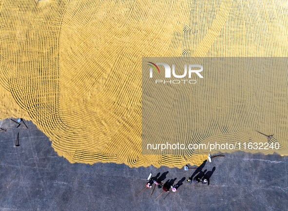
<path id="1" fill-rule="evenodd" d="M 233 155 L 215 158 L 203 170 L 211 171 L 210 185 L 189 184 L 193 169 L 129 168 L 124 164 L 69 163 L 58 157 L 51 141 L 37 127 L 29 129 L 0 121 L 0 210 L 31 211 L 286 211 L 288 157 Z M 15 147 L 19 132 L 19 147 Z M 183 177 L 177 193 L 155 189 L 139 193 L 153 172 L 169 171 L 164 181 Z"/>

